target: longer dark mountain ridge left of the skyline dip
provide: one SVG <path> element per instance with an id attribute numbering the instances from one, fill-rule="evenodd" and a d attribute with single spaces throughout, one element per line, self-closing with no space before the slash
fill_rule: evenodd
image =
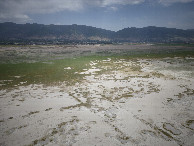
<path id="1" fill-rule="evenodd" d="M 0 24 L 0 39 L 109 39 L 114 32 L 85 25 Z"/>

